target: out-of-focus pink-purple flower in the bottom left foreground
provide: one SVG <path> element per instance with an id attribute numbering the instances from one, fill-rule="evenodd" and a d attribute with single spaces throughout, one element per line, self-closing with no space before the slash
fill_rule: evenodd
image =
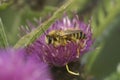
<path id="1" fill-rule="evenodd" d="M 51 80 L 48 67 L 24 50 L 0 50 L 0 80 Z"/>

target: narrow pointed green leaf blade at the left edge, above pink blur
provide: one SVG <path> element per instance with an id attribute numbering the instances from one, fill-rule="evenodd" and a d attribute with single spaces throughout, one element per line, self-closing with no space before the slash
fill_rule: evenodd
<path id="1" fill-rule="evenodd" d="M 0 18 L 0 47 L 7 47 L 8 46 L 8 42 L 7 42 L 7 37 L 4 31 L 4 26 L 2 23 L 2 20 Z"/>

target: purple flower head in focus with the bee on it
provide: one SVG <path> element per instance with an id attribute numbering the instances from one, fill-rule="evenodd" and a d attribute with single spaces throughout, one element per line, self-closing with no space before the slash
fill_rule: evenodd
<path id="1" fill-rule="evenodd" d="M 33 27 L 30 25 L 30 27 Z M 81 30 L 85 35 L 86 39 L 80 39 L 79 44 L 76 42 L 69 42 L 67 44 L 54 46 L 53 44 L 47 44 L 45 37 L 53 30 Z M 41 60 L 46 63 L 55 66 L 64 66 L 69 62 L 76 61 L 84 53 L 90 50 L 92 45 L 92 32 L 90 24 L 85 24 L 80 21 L 78 17 L 73 19 L 64 16 L 60 20 L 56 20 L 50 28 L 44 32 L 32 45 L 27 47 L 27 51 L 30 53 L 36 53 Z"/>

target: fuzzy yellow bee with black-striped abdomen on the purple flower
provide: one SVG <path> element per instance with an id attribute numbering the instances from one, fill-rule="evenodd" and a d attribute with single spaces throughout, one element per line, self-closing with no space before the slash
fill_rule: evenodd
<path id="1" fill-rule="evenodd" d="M 81 30 L 53 30 L 46 35 L 46 43 L 54 46 L 66 45 L 67 43 L 86 39 L 85 33 Z"/>

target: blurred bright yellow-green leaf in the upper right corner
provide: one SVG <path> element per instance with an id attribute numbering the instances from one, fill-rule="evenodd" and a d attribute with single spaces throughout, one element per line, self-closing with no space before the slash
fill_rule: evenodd
<path id="1" fill-rule="evenodd" d="M 100 3 L 93 13 L 92 25 L 96 27 L 94 29 L 93 38 L 99 37 L 110 23 L 120 13 L 120 1 L 119 0 L 106 0 Z M 97 21 L 97 22 L 96 22 Z"/>

